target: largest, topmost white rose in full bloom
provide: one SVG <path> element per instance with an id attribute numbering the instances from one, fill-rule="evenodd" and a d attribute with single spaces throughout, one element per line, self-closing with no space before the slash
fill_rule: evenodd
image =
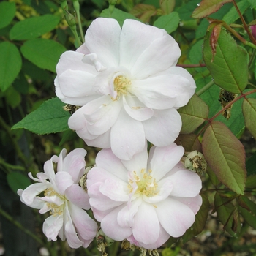
<path id="1" fill-rule="evenodd" d="M 111 148 L 128 160 L 146 140 L 167 146 L 181 130 L 177 109 L 195 92 L 186 69 L 176 67 L 181 50 L 163 29 L 125 20 L 97 18 L 86 43 L 62 54 L 56 95 L 81 106 L 69 127 L 89 146 Z"/>

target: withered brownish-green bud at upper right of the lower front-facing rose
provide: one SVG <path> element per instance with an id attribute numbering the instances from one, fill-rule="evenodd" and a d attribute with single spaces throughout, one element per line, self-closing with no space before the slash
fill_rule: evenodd
<path id="1" fill-rule="evenodd" d="M 207 162 L 203 154 L 198 151 L 190 152 L 185 158 L 185 168 L 195 173 L 203 174 L 207 170 Z"/>

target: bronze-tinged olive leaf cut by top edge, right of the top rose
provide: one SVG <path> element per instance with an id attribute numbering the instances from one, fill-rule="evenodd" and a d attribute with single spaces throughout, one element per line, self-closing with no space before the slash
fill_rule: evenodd
<path id="1" fill-rule="evenodd" d="M 232 0 L 203 0 L 199 6 L 192 12 L 192 18 L 204 18 L 213 12 L 217 12 L 223 4 L 229 3 Z"/>

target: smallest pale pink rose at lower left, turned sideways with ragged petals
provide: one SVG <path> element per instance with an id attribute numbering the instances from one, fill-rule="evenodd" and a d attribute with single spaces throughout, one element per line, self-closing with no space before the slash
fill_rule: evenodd
<path id="1" fill-rule="evenodd" d="M 50 211 L 50 217 L 43 223 L 43 233 L 48 241 L 56 241 L 57 236 L 70 247 L 87 247 L 96 236 L 97 223 L 83 209 L 89 210 L 89 196 L 79 187 L 78 181 L 83 176 L 86 151 L 77 148 L 67 154 L 66 149 L 59 157 L 53 156 L 45 162 L 44 173 L 37 173 L 37 178 L 29 177 L 38 183 L 25 190 L 18 189 L 20 200 L 27 206 L 39 209 L 40 214 Z M 53 162 L 58 163 L 54 172 Z M 38 195 L 44 193 L 44 196 Z"/>

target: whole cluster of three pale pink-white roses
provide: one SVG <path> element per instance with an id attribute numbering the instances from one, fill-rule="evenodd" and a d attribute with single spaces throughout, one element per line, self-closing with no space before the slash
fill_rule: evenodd
<path id="1" fill-rule="evenodd" d="M 56 95 L 78 107 L 69 128 L 102 150 L 88 170 L 83 148 L 63 149 L 37 178 L 29 173 L 37 183 L 18 190 L 26 205 L 50 211 L 43 224 L 48 241 L 59 236 L 72 248 L 87 247 L 98 222 L 108 238 L 152 250 L 195 222 L 202 183 L 174 143 L 182 125 L 177 109 L 195 93 L 192 76 L 176 67 L 180 55 L 165 30 L 136 20 L 121 29 L 111 18 L 94 20 L 85 43 L 61 55 Z"/>

